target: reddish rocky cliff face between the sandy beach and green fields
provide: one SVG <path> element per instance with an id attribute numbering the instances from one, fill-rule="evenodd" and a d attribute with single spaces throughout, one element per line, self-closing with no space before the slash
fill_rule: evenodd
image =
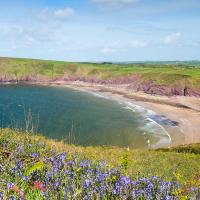
<path id="1" fill-rule="evenodd" d="M 48 78 L 42 75 L 27 75 L 27 76 L 15 76 L 15 75 L 4 75 L 0 77 L 0 83 L 37 83 L 37 82 L 49 82 L 49 81 L 83 81 L 87 83 L 96 84 L 109 84 L 109 85 L 126 85 L 128 89 L 133 91 L 142 91 L 151 95 L 164 95 L 164 96 L 197 96 L 200 97 L 200 90 L 181 87 L 181 86 L 165 86 L 156 84 L 154 81 L 144 81 L 138 75 L 120 76 L 109 79 L 99 79 L 95 76 L 82 77 L 72 76 L 67 73 L 61 77 Z"/>

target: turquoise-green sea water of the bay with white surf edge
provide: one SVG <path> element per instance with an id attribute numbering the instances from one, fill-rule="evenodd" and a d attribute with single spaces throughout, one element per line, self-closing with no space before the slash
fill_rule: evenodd
<path id="1" fill-rule="evenodd" d="M 162 141 L 168 145 L 162 127 L 145 117 L 147 111 L 100 97 L 62 87 L 1 86 L 1 127 L 31 129 L 33 124 L 36 132 L 49 138 L 83 146 L 147 148 Z"/>

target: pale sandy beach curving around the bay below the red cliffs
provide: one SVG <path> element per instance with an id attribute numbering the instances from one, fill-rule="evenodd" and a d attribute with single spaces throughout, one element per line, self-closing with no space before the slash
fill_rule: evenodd
<path id="1" fill-rule="evenodd" d="M 153 96 L 129 90 L 126 85 L 102 85 L 81 81 L 25 82 L 24 84 L 60 86 L 111 95 L 115 99 L 119 98 L 122 101 L 132 102 L 147 110 L 154 111 L 161 117 L 177 122 L 177 126 L 160 125 L 158 123 L 169 134 L 170 147 L 200 142 L 200 98 L 197 97 Z"/>

